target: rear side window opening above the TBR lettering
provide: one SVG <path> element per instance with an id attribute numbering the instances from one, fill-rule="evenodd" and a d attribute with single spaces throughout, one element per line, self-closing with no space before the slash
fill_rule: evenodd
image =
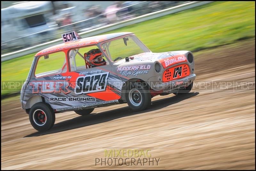
<path id="1" fill-rule="evenodd" d="M 56 52 L 39 57 L 36 65 L 35 76 L 42 77 L 66 72 L 66 55 L 64 52 Z"/>

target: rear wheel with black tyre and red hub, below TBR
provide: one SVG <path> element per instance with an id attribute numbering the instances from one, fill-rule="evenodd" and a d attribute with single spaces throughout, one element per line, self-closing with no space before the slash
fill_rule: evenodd
<path id="1" fill-rule="evenodd" d="M 39 102 L 33 105 L 29 111 L 31 125 L 38 131 L 46 131 L 52 128 L 55 122 L 55 114 L 50 105 Z"/>

